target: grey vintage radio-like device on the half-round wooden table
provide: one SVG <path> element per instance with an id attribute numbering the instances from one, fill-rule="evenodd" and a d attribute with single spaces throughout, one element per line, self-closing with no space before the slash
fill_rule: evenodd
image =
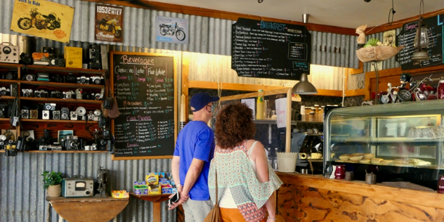
<path id="1" fill-rule="evenodd" d="M 74 175 L 72 178 L 63 178 L 63 197 L 93 197 L 93 195 L 94 180 L 92 178 L 84 178 L 80 175 Z"/>

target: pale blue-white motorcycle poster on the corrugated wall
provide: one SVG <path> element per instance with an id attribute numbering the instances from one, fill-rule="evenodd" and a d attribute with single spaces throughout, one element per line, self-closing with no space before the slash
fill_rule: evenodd
<path id="1" fill-rule="evenodd" d="M 156 16 L 156 41 L 188 44 L 188 19 Z"/>

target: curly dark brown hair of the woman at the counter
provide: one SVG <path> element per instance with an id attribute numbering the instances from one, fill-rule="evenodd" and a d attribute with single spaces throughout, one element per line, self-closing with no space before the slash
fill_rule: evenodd
<path id="1" fill-rule="evenodd" d="M 254 138 L 255 133 L 253 111 L 242 103 L 230 104 L 217 115 L 214 135 L 222 149 L 235 148 L 244 140 Z"/>

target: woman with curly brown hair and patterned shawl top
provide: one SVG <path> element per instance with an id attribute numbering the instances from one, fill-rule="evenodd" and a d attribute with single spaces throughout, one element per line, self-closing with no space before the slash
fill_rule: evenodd
<path id="1" fill-rule="evenodd" d="M 219 112 L 208 186 L 211 200 L 216 204 L 217 176 L 223 222 L 276 221 L 273 192 L 282 181 L 268 164 L 261 142 L 253 140 L 254 133 L 253 112 L 246 105 L 228 105 Z"/>

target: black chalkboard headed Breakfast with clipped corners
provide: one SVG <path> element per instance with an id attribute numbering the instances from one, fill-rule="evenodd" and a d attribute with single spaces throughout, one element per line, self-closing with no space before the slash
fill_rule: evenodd
<path id="1" fill-rule="evenodd" d="M 231 68 L 238 76 L 299 80 L 310 74 L 311 34 L 305 26 L 239 18 L 232 30 Z"/>

